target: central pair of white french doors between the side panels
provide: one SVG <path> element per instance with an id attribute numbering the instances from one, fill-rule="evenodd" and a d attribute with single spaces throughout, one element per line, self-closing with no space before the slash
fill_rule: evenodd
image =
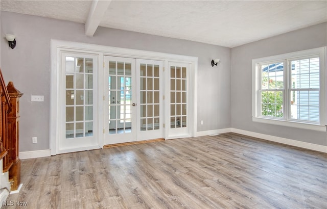
<path id="1" fill-rule="evenodd" d="M 162 62 L 104 57 L 104 144 L 164 136 Z"/>

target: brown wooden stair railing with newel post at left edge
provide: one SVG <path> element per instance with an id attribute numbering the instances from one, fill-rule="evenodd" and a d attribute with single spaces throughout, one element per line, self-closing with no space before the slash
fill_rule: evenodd
<path id="1" fill-rule="evenodd" d="M 9 179 L 12 182 L 11 190 L 17 190 L 20 184 L 20 160 L 18 157 L 19 98 L 22 93 L 14 87 L 12 82 L 9 82 L 7 87 L 5 86 L 1 69 L 0 77 L 0 156 L 3 159 L 3 172 L 9 171 Z"/>

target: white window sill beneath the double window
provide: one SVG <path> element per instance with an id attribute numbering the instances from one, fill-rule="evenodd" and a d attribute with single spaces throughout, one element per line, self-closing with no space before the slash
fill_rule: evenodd
<path id="1" fill-rule="evenodd" d="M 295 127 L 295 128 L 318 130 L 319 132 L 327 131 L 326 126 L 319 125 L 319 124 L 300 123 L 295 121 L 286 121 L 286 120 L 277 120 L 277 119 L 259 118 L 259 117 L 252 117 L 252 121 L 259 122 L 259 123 L 273 124 L 273 125 L 282 125 L 282 126 Z"/>

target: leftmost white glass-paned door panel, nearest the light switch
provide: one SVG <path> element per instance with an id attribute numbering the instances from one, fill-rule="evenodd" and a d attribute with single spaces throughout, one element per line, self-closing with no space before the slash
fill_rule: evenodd
<path id="1" fill-rule="evenodd" d="M 58 153 L 99 148 L 97 72 L 97 56 L 61 54 Z"/>

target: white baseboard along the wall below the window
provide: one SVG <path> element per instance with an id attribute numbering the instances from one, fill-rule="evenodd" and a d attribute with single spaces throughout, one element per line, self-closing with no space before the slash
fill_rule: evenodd
<path id="1" fill-rule="evenodd" d="M 264 140 L 268 140 L 268 141 L 278 142 L 278 143 L 282 143 L 282 144 L 292 145 L 295 147 L 301 147 L 301 148 L 305 148 L 305 149 L 311 149 L 311 150 L 327 153 L 327 146 L 323 146 L 323 145 L 319 145 L 319 144 L 312 144 L 312 143 L 301 142 L 301 141 L 297 141 L 297 140 L 293 140 L 293 139 L 286 139 L 286 138 L 276 137 L 276 136 L 271 136 L 271 135 L 266 135 L 266 134 L 259 134 L 259 133 L 249 132 L 247 130 L 241 130 L 241 129 L 237 129 L 237 128 L 231 128 L 231 132 L 237 133 L 237 134 L 243 134 L 243 135 L 250 136 L 250 137 L 256 137 L 256 138 L 260 138 L 260 139 L 264 139 Z"/>

